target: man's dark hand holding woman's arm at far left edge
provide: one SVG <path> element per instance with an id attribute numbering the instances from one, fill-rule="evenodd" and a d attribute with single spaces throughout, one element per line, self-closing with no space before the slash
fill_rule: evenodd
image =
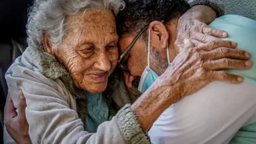
<path id="1" fill-rule="evenodd" d="M 18 144 L 30 144 L 28 122 L 26 120 L 26 99 L 22 91 L 18 92 L 18 114 L 15 111 L 10 93 L 5 104 L 5 127 L 9 135 Z"/>

